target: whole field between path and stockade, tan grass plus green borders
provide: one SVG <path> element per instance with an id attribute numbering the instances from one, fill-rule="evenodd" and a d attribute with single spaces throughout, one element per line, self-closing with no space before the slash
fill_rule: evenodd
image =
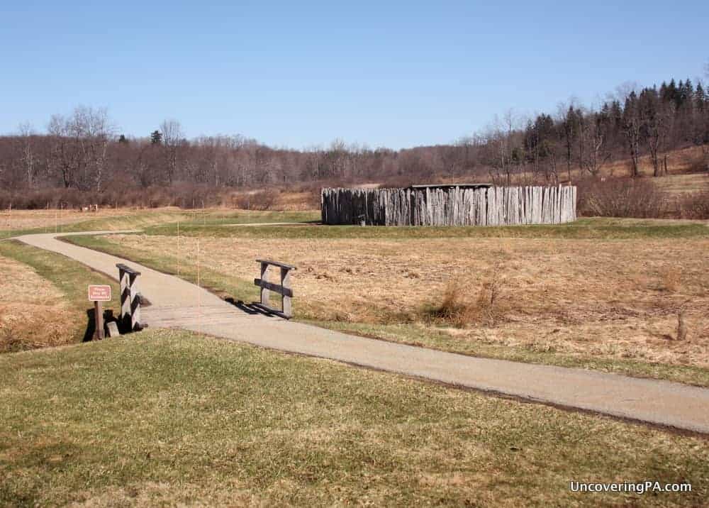
<path id="1" fill-rule="evenodd" d="M 72 241 L 193 281 L 199 242 L 201 284 L 246 301 L 256 297 L 256 258 L 292 263 L 296 318 L 350 333 L 709 386 L 706 222 L 581 219 L 507 228 L 193 222 L 180 236 L 174 224 L 146 233 Z M 442 307 L 452 289 L 454 312 L 447 313 Z"/>

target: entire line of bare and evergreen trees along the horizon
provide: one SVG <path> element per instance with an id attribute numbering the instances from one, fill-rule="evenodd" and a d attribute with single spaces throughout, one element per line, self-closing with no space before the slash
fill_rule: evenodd
<path id="1" fill-rule="evenodd" d="M 162 122 L 145 137 L 130 137 L 119 133 L 106 109 L 80 106 L 52 116 L 45 133 L 24 125 L 0 137 L 0 198 L 38 207 L 71 195 L 72 201 L 121 206 L 147 204 L 146 197 L 160 195 L 147 201 L 190 206 L 194 189 L 202 189 L 199 203 L 233 189 L 269 186 L 459 177 L 557 184 L 598 177 L 608 162 L 619 159 L 630 161 L 628 174 L 636 177 L 643 155 L 660 177 L 667 169 L 666 152 L 687 145 L 709 145 L 709 95 L 690 79 L 630 90 L 598 109 L 568 104 L 554 115 L 510 113 L 451 145 L 406 150 L 340 140 L 311 150 L 271 148 L 243 136 L 188 140 L 176 120 Z"/>

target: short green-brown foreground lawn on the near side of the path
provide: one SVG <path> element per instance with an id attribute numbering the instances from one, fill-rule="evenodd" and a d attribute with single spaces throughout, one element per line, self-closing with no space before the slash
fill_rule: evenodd
<path id="1" fill-rule="evenodd" d="M 700 506 L 705 439 L 147 331 L 0 357 L 5 506 Z M 692 492 L 570 492 L 569 481 Z"/>

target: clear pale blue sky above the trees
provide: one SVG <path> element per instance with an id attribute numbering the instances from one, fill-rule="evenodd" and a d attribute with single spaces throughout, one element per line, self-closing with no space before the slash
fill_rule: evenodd
<path id="1" fill-rule="evenodd" d="M 275 146 L 449 143 L 495 114 L 703 76 L 709 2 L 4 2 L 0 133 L 106 106 L 120 131 Z"/>

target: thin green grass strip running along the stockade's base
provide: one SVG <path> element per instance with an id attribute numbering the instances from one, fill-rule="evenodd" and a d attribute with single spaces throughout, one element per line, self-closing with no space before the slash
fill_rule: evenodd
<path id="1" fill-rule="evenodd" d="M 162 224 L 145 229 L 149 235 L 175 236 L 177 226 Z M 705 223 L 638 219 L 586 218 L 574 223 L 530 226 L 260 226 L 223 228 L 192 222 L 180 226 L 186 236 L 244 238 L 588 238 L 626 240 L 635 238 L 709 238 Z"/>

